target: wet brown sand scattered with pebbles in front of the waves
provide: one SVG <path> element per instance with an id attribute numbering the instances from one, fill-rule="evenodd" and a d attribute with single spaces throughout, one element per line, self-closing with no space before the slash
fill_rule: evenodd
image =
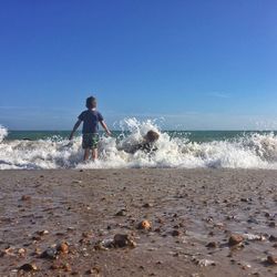
<path id="1" fill-rule="evenodd" d="M 0 276 L 277 276 L 277 171 L 1 171 L 0 201 Z"/>

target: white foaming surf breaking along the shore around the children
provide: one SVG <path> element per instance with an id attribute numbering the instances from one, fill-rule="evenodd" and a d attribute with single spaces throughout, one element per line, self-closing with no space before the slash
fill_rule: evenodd
<path id="1" fill-rule="evenodd" d="M 127 167 L 214 167 L 277 168 L 277 136 L 254 133 L 236 140 L 191 142 L 187 137 L 171 137 L 152 122 L 125 120 L 121 124 L 129 135 L 101 137 L 100 160 L 82 163 L 81 137 L 72 144 L 66 140 L 3 140 L 7 129 L 0 127 L 0 168 L 127 168 Z M 142 141 L 148 130 L 157 131 L 157 151 L 127 153 Z"/>

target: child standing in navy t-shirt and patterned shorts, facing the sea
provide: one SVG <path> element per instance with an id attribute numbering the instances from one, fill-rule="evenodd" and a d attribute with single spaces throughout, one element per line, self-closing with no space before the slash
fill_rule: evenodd
<path id="1" fill-rule="evenodd" d="M 99 144 L 99 123 L 105 130 L 107 135 L 111 135 L 102 114 L 96 111 L 96 99 L 90 96 L 86 99 L 85 106 L 86 111 L 83 111 L 79 116 L 78 121 L 70 134 L 69 140 L 72 140 L 75 131 L 83 122 L 83 141 L 82 147 L 84 150 L 84 161 L 89 160 L 92 154 L 92 160 L 95 161 L 98 158 L 98 144 Z"/>

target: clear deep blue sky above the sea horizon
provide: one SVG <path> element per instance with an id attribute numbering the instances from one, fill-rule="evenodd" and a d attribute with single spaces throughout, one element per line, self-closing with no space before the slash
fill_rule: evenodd
<path id="1" fill-rule="evenodd" d="M 0 0 L 0 124 L 277 130 L 276 0 Z M 116 124 L 115 124 L 116 127 Z"/>

